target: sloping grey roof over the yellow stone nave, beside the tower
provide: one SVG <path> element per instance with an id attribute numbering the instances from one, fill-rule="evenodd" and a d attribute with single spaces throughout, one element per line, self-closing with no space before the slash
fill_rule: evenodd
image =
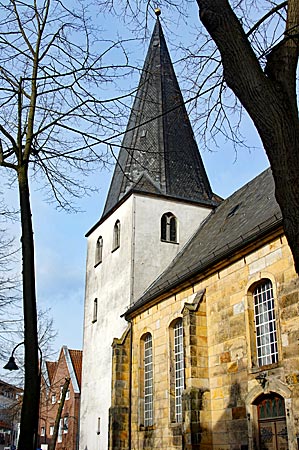
<path id="1" fill-rule="evenodd" d="M 168 268 L 124 315 L 144 308 L 158 295 L 203 273 L 281 225 L 274 180 L 271 169 L 267 169 L 209 214 Z"/>

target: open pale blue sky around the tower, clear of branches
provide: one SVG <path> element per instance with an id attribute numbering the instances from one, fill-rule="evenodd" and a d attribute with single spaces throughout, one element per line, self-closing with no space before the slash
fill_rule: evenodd
<path id="1" fill-rule="evenodd" d="M 107 20 L 106 17 L 104 25 L 107 25 Z M 114 31 L 117 32 L 119 26 L 123 32 L 123 24 L 116 19 L 114 25 Z M 150 27 L 153 25 L 154 21 Z M 181 31 L 185 33 L 183 27 Z M 180 30 L 176 31 L 177 36 L 179 32 Z M 166 38 L 168 36 L 169 32 Z M 140 46 L 136 53 L 136 59 L 141 65 L 147 44 L 148 42 Z M 221 141 L 218 141 L 218 147 L 212 148 L 212 151 L 201 151 L 212 189 L 222 197 L 227 197 L 268 167 L 265 153 L 249 120 L 245 120 L 243 134 L 252 147 L 250 151 L 240 148 L 235 153 L 230 143 Z M 197 141 L 200 148 L 200 139 Z M 40 191 L 33 189 L 31 193 L 37 299 L 41 308 L 50 308 L 50 314 L 54 318 L 54 327 L 58 332 L 53 342 L 56 354 L 62 345 L 72 349 L 82 348 L 86 259 L 84 235 L 101 216 L 111 176 L 111 171 L 103 171 L 101 168 L 91 176 L 91 184 L 98 188 L 98 192 L 78 201 L 77 205 L 84 210 L 82 213 L 57 211 L 53 205 L 45 202 Z M 16 192 L 10 190 L 7 198 L 17 205 Z M 19 241 L 16 225 L 11 232 Z"/>

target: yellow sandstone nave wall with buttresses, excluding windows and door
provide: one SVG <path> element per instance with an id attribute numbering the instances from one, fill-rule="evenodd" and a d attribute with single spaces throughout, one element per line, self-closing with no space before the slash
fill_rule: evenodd
<path id="1" fill-rule="evenodd" d="M 251 290 L 273 284 L 278 362 L 254 364 Z M 183 421 L 172 420 L 171 323 L 184 327 Z M 298 278 L 283 236 L 251 248 L 132 320 L 132 449 L 246 450 L 258 442 L 256 401 L 261 394 L 284 399 L 289 450 L 299 436 Z M 154 421 L 142 426 L 142 337 L 153 339 Z"/>

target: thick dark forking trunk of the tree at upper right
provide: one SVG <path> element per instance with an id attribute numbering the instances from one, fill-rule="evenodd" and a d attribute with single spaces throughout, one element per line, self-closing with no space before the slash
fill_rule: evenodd
<path id="1" fill-rule="evenodd" d="M 201 21 L 220 51 L 225 81 L 253 120 L 269 158 L 299 274 L 299 2 L 288 1 L 285 37 L 269 52 L 265 71 L 227 0 L 197 0 L 197 4 Z"/>

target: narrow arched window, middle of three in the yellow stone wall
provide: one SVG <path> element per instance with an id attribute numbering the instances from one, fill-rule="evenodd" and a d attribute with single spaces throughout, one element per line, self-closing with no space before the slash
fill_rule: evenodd
<path id="1" fill-rule="evenodd" d="M 183 421 L 182 392 L 185 388 L 183 320 L 176 319 L 170 331 L 170 416 L 172 422 Z"/>

